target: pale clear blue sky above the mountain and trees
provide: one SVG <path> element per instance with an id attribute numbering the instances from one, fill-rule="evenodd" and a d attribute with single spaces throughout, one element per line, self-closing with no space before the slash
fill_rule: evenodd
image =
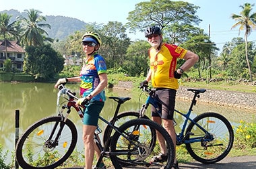
<path id="1" fill-rule="evenodd" d="M 127 23 L 129 11 L 135 9 L 135 4 L 141 1 L 149 0 L 0 0 L 0 11 L 16 9 L 23 12 L 25 9 L 36 9 L 42 12 L 42 15 L 61 15 L 73 17 L 86 23 L 108 23 L 108 21 L 120 21 Z M 244 3 L 255 3 L 253 13 L 256 12 L 255 0 L 184 0 L 200 7 L 197 10 L 201 23 L 197 25 L 203 28 L 205 34 L 209 34 L 212 42 L 222 50 L 222 46 L 226 42 L 230 42 L 232 38 L 244 38 L 245 32 L 238 35 L 238 27 L 231 30 L 232 25 L 236 23 L 231 19 L 232 13 L 240 15 L 242 8 L 240 5 Z M 144 39 L 143 33 L 128 34 L 131 40 Z M 248 38 L 256 44 L 256 30 Z"/>

